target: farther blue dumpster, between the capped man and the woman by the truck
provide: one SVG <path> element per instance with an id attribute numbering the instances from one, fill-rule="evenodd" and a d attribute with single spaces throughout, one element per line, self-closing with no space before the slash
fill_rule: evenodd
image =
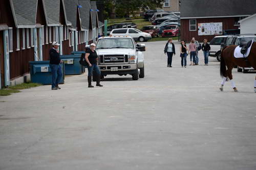
<path id="1" fill-rule="evenodd" d="M 63 55 L 60 59 L 65 63 L 65 75 L 81 75 L 83 72 L 82 65 L 80 65 L 81 55 Z"/>

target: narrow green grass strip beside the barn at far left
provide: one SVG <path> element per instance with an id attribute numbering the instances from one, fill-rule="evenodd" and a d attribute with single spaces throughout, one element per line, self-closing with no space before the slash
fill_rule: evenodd
<path id="1" fill-rule="evenodd" d="M 20 92 L 19 90 L 32 88 L 32 87 L 37 87 L 37 86 L 41 86 L 41 84 L 38 84 L 38 83 L 22 83 L 22 84 L 18 84 L 18 85 L 15 85 L 15 86 L 9 86 L 8 88 L 4 88 L 4 89 L 0 90 L 0 95 L 10 95 L 11 93 Z"/>

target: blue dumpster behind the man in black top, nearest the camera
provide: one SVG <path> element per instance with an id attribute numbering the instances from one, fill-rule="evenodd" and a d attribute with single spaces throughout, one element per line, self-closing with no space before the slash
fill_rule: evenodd
<path id="1" fill-rule="evenodd" d="M 52 70 L 50 67 L 50 61 L 30 61 L 30 79 L 32 83 L 40 83 L 42 85 L 52 84 Z M 60 64 L 62 70 L 62 77 L 59 84 L 64 83 L 65 65 Z"/>

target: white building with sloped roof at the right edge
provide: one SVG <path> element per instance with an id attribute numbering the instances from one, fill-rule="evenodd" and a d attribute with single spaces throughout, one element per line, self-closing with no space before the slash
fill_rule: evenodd
<path id="1" fill-rule="evenodd" d="M 256 34 L 256 14 L 239 21 L 241 34 Z"/>

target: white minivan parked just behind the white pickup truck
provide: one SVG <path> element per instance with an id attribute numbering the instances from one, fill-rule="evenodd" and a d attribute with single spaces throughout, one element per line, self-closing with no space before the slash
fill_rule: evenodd
<path id="1" fill-rule="evenodd" d="M 114 29 L 110 33 L 111 36 L 130 36 L 135 41 L 147 41 L 152 39 L 152 36 L 148 33 L 144 33 L 138 29 L 125 28 L 125 29 Z"/>

